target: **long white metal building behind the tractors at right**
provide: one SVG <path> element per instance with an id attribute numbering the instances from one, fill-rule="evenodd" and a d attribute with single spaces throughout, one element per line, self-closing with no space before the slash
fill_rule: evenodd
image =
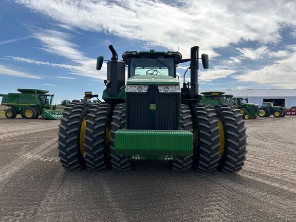
<path id="1" fill-rule="evenodd" d="M 215 89 L 199 90 L 221 91 L 234 97 L 248 98 L 249 103 L 262 105 L 262 102 L 274 102 L 274 105 L 284 106 L 286 108 L 296 106 L 296 89 Z"/>

